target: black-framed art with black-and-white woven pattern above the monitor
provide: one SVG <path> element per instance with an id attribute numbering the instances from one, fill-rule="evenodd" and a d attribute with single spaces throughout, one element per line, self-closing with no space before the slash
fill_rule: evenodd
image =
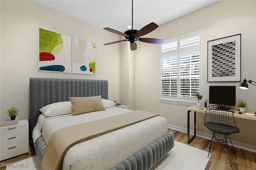
<path id="1" fill-rule="evenodd" d="M 241 81 L 241 34 L 207 42 L 207 82 Z"/>

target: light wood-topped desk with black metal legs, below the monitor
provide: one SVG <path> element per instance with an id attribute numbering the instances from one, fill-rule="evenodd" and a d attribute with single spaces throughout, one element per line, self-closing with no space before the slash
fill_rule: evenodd
<path id="1" fill-rule="evenodd" d="M 190 106 L 187 108 L 187 110 L 188 110 L 188 143 L 190 143 L 196 137 L 196 112 L 205 113 L 206 109 L 207 109 L 207 107 L 197 107 L 197 106 Z M 189 137 L 190 111 L 194 111 L 194 136 L 191 139 Z M 256 121 L 256 116 L 245 115 L 245 113 L 254 113 L 254 112 L 246 111 L 246 112 L 243 112 L 242 114 L 239 114 L 238 110 L 232 110 L 232 111 L 235 112 L 235 113 L 233 113 L 234 117 L 238 117 L 238 118 L 242 118 L 242 119 L 250 119 L 250 120 Z M 254 115 L 255 115 L 255 113 L 254 113 Z"/>

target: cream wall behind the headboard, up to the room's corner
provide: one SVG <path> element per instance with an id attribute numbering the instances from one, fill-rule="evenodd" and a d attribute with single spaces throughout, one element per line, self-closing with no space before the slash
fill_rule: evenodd
<path id="1" fill-rule="evenodd" d="M 11 106 L 20 109 L 18 119 L 29 118 L 30 77 L 108 80 L 109 99 L 120 101 L 120 45 L 103 45 L 120 36 L 32 1 L 0 3 L 1 120 Z M 38 27 L 96 43 L 96 75 L 38 71 Z"/>

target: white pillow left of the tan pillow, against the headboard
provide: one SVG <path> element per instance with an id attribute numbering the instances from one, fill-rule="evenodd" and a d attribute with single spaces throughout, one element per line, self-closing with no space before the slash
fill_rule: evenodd
<path id="1" fill-rule="evenodd" d="M 47 117 L 64 115 L 73 112 L 71 102 L 52 103 L 42 107 L 39 110 Z"/>

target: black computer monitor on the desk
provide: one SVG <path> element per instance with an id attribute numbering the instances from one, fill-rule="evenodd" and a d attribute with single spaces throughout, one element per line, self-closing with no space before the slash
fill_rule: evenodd
<path id="1" fill-rule="evenodd" d="M 236 106 L 236 86 L 209 86 L 209 104 Z"/>

